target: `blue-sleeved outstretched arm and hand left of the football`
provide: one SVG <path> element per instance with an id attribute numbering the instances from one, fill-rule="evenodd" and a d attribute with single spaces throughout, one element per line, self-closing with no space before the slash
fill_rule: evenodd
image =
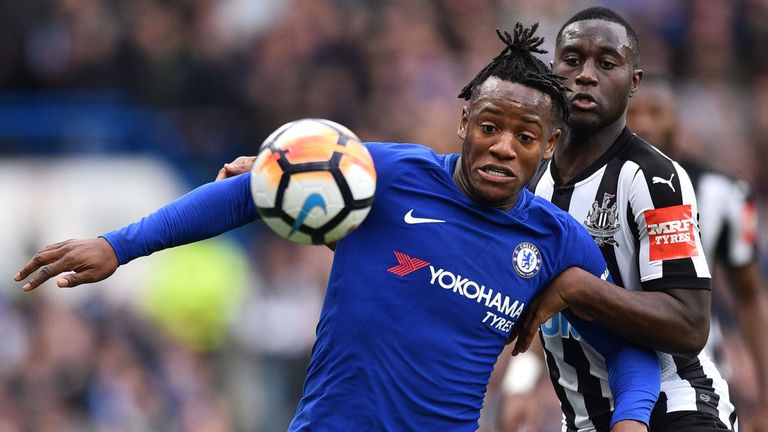
<path id="1" fill-rule="evenodd" d="M 106 279 L 118 265 L 162 249 L 214 237 L 258 218 L 250 176 L 203 185 L 140 221 L 96 239 L 67 240 L 37 252 L 13 279 L 30 291 L 48 279 L 74 287 Z M 38 271 L 39 270 L 39 271 Z M 35 273 L 37 272 L 37 273 Z"/>

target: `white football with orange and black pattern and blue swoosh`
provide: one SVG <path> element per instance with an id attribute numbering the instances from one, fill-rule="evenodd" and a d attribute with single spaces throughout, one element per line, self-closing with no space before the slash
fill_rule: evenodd
<path id="1" fill-rule="evenodd" d="M 281 126 L 264 140 L 251 170 L 251 193 L 262 219 L 297 243 L 339 240 L 363 222 L 375 191 L 368 149 L 330 120 Z"/>

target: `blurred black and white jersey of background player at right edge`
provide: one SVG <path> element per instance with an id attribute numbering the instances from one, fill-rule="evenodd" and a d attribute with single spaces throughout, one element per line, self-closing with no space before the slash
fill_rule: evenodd
<path id="1" fill-rule="evenodd" d="M 738 268 L 757 259 L 757 207 L 749 184 L 692 161 L 688 172 L 699 204 L 701 242 L 710 269 Z M 713 299 L 713 304 L 715 299 Z M 718 362 L 722 332 L 713 313 L 705 351 Z"/>

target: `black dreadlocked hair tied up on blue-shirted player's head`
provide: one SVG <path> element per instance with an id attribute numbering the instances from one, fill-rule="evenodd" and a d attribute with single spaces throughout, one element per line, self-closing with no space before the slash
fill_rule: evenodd
<path id="1" fill-rule="evenodd" d="M 566 92 L 570 89 L 563 84 L 565 78 L 553 74 L 544 62 L 533 55 L 533 53 L 545 54 L 547 52 L 539 48 L 544 43 L 544 38 L 534 36 L 538 28 L 539 23 L 525 28 L 518 22 L 515 24 L 512 35 L 497 29 L 496 34 L 504 42 L 504 49 L 469 84 L 464 86 L 459 93 L 459 98 L 472 99 L 476 90 L 488 78 L 496 77 L 535 88 L 549 95 L 556 115 L 562 116 L 564 122 L 567 121 L 570 105 Z"/>

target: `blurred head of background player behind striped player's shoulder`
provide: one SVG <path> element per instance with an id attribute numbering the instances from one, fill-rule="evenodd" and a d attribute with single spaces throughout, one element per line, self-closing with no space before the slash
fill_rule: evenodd
<path id="1" fill-rule="evenodd" d="M 675 102 L 666 86 L 643 84 L 629 102 L 627 125 L 632 132 L 671 154 L 674 149 Z"/>

